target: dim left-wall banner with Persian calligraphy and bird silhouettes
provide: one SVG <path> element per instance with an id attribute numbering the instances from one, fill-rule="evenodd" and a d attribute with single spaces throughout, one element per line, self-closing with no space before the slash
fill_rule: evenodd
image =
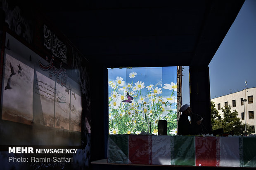
<path id="1" fill-rule="evenodd" d="M 33 144 L 51 144 L 55 135 L 55 144 L 69 144 L 65 135 L 81 132 L 80 84 L 69 78 L 64 61 L 55 60 L 56 56 L 45 56 L 44 60 L 9 33 L 5 46 L 1 119 L 33 126 L 36 133 L 29 141 L 36 141 Z M 49 133 L 51 130 L 55 133 Z M 74 141 L 79 145 L 81 140 Z"/>

